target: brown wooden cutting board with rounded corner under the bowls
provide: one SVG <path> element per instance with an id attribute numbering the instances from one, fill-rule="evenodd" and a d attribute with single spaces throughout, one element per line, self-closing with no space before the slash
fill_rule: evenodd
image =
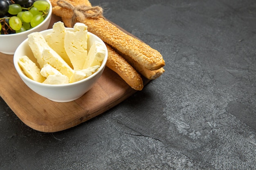
<path id="1" fill-rule="evenodd" d="M 49 28 L 60 20 L 53 15 Z M 3 53 L 0 53 L 0 76 L 2 99 L 24 124 L 41 132 L 74 127 L 104 113 L 136 92 L 106 67 L 98 82 L 81 98 L 66 103 L 52 102 L 27 87 L 13 66 L 13 55 Z M 145 85 L 148 82 L 144 79 Z"/>

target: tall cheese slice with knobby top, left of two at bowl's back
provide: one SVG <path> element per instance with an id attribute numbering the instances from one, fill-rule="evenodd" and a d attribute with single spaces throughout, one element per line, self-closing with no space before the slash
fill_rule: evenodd
<path id="1" fill-rule="evenodd" d="M 58 53 L 70 67 L 73 67 L 64 48 L 64 38 L 66 33 L 64 23 L 61 21 L 54 23 L 52 30 L 52 33 L 45 36 L 47 44 L 56 51 L 56 53 Z"/>

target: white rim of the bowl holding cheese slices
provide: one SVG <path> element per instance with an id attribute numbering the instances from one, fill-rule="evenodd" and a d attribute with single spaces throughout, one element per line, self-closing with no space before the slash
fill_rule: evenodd
<path id="1" fill-rule="evenodd" d="M 66 27 L 66 29 L 68 29 L 68 30 L 73 30 L 74 28 Z M 52 31 L 52 29 L 46 29 L 46 30 L 40 31 L 39 33 L 48 32 L 48 31 L 49 31 L 49 33 L 50 33 L 50 31 Z M 17 61 L 18 57 L 20 57 L 20 55 L 17 54 L 17 53 L 18 53 L 17 50 L 20 49 L 25 43 L 27 43 L 28 38 L 26 38 L 26 39 L 18 46 L 18 48 L 16 49 L 15 53 L 13 54 L 13 64 L 14 64 L 14 67 L 16 68 L 16 71 L 17 71 L 18 75 L 20 75 L 20 77 L 21 77 L 22 79 L 25 79 L 25 80 L 28 81 L 29 83 L 33 83 L 33 84 L 39 85 L 39 86 L 51 87 L 51 88 L 74 86 L 74 85 L 76 85 L 76 84 L 81 84 L 81 83 L 83 83 L 83 82 L 85 82 L 85 81 L 87 81 L 87 80 L 92 79 L 93 77 L 97 76 L 97 74 L 98 74 L 99 72 L 101 72 L 101 71 L 105 68 L 106 62 L 107 62 L 107 59 L 108 59 L 108 49 L 107 49 L 107 47 L 106 47 L 106 44 L 103 42 L 103 40 L 101 40 L 101 38 L 99 38 L 97 35 L 95 35 L 95 34 L 89 32 L 89 31 L 88 31 L 88 34 L 89 34 L 89 38 L 90 38 L 91 35 L 95 36 L 95 37 L 98 39 L 98 41 L 100 41 L 101 44 L 103 44 L 103 46 L 104 46 L 104 48 L 105 48 L 105 51 L 106 51 L 106 54 L 105 54 L 104 59 L 103 59 L 103 61 L 102 61 L 102 63 L 101 63 L 101 66 L 98 68 L 98 70 L 97 70 L 95 73 L 93 73 L 93 74 L 90 75 L 89 77 L 86 77 L 85 79 L 81 79 L 81 80 L 79 80 L 79 81 L 77 81 L 77 82 L 68 83 L 68 84 L 43 84 L 43 83 L 36 82 L 35 80 L 30 79 L 29 77 L 27 77 L 27 76 L 24 74 L 24 72 L 23 72 L 22 69 L 20 68 L 20 66 L 19 66 L 19 64 L 18 64 L 18 61 Z M 18 69 L 19 71 L 18 71 L 17 69 Z"/>

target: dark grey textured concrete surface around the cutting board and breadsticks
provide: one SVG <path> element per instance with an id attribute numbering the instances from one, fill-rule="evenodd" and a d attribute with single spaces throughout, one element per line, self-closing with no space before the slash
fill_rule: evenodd
<path id="1" fill-rule="evenodd" d="M 0 169 L 256 169 L 256 1 L 94 0 L 166 72 L 74 128 L 37 132 L 0 100 Z"/>

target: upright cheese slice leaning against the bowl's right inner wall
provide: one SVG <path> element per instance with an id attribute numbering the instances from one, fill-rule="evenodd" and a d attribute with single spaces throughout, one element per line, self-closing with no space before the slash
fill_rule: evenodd
<path id="1" fill-rule="evenodd" d="M 83 69 L 97 65 L 100 66 L 105 54 L 106 50 L 103 44 L 101 44 L 98 41 L 95 41 L 88 52 L 87 58 L 83 65 Z"/>

